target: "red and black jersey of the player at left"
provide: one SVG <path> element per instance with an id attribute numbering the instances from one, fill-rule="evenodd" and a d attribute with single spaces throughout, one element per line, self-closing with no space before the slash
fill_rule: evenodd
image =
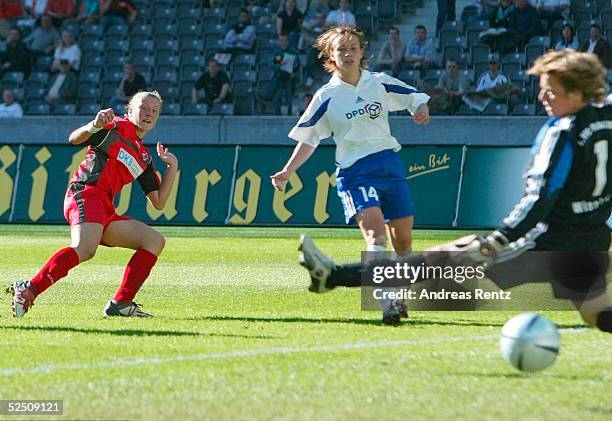
<path id="1" fill-rule="evenodd" d="M 70 181 L 73 191 L 95 190 L 111 201 L 123 186 L 138 180 L 145 195 L 159 190 L 159 178 L 148 149 L 126 118 L 113 122 L 84 142 L 87 156 Z"/>

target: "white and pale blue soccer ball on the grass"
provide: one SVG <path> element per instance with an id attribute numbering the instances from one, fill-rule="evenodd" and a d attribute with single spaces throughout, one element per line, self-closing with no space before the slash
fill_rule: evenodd
<path id="1" fill-rule="evenodd" d="M 523 313 L 502 328 L 499 341 L 502 357 L 522 371 L 540 371 L 555 362 L 561 337 L 553 322 L 544 316 Z"/>

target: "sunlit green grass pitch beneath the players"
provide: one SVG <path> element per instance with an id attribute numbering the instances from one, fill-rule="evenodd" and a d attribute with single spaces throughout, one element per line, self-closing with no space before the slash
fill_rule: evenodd
<path id="1" fill-rule="evenodd" d="M 166 250 L 137 297 L 152 319 L 102 317 L 128 250 L 101 247 L 23 319 L 0 297 L 0 399 L 63 399 L 64 419 L 612 418 L 609 335 L 562 333 L 557 362 L 523 374 L 498 350 L 515 313 L 414 312 L 392 328 L 358 290 L 309 293 L 299 233 L 347 262 L 356 229 L 160 230 Z M 417 231 L 415 248 L 458 235 Z M 0 225 L 2 286 L 68 244 L 65 226 Z"/>

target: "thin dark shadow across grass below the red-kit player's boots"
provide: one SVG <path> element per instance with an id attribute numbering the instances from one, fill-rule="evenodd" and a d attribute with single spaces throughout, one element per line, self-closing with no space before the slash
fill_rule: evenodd
<path id="1" fill-rule="evenodd" d="M 241 339 L 281 339 L 280 337 L 264 335 L 234 335 L 229 333 L 200 333 L 177 330 L 146 330 L 146 329 L 91 329 L 69 326 L 0 326 L 1 329 L 43 332 L 69 332 L 85 334 L 102 334 L 116 336 L 209 336 Z"/>

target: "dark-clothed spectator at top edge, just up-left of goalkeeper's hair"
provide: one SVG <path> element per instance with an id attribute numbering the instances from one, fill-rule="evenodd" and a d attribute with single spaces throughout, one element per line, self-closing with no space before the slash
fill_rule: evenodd
<path id="1" fill-rule="evenodd" d="M 537 10 L 527 0 L 515 0 L 515 4 L 516 8 L 510 14 L 508 32 L 502 34 L 497 42 L 497 50 L 503 54 L 525 48 L 531 37 L 542 33 Z"/>

